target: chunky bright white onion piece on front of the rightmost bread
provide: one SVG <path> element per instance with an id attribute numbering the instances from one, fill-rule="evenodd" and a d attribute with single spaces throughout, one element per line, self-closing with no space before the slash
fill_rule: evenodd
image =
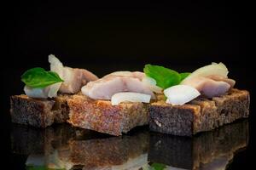
<path id="1" fill-rule="evenodd" d="M 200 92 L 187 85 L 176 85 L 166 88 L 164 94 L 167 97 L 166 103 L 172 105 L 184 105 L 200 95 Z"/>

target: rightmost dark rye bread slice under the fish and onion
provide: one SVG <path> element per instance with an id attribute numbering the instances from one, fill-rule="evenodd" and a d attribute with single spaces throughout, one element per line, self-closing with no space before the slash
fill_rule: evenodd
<path id="1" fill-rule="evenodd" d="M 249 105 L 249 93 L 235 88 L 220 97 L 194 99 L 186 105 L 159 100 L 149 105 L 149 128 L 159 133 L 192 136 L 248 117 Z"/>

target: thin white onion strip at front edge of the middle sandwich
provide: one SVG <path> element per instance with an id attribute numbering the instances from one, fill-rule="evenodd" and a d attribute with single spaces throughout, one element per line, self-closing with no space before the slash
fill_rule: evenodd
<path id="1" fill-rule="evenodd" d="M 118 94 L 113 94 L 113 96 L 111 97 L 111 104 L 119 105 L 119 103 L 124 101 L 149 103 L 150 99 L 151 95 L 148 94 L 121 92 Z"/>

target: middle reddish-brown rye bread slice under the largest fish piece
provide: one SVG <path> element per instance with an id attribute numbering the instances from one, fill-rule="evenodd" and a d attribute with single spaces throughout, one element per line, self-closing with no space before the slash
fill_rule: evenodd
<path id="1" fill-rule="evenodd" d="M 133 127 L 148 124 L 148 105 L 125 102 L 111 105 L 111 101 L 94 100 L 84 95 L 67 99 L 69 120 L 75 127 L 83 127 L 115 136 Z"/>

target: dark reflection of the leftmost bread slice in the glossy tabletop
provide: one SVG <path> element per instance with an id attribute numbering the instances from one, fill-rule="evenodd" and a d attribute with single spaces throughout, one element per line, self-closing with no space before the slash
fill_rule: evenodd
<path id="1" fill-rule="evenodd" d="M 11 130 L 11 147 L 16 154 L 44 154 L 67 144 L 75 136 L 76 129 L 67 123 L 44 129 L 15 124 Z"/>

